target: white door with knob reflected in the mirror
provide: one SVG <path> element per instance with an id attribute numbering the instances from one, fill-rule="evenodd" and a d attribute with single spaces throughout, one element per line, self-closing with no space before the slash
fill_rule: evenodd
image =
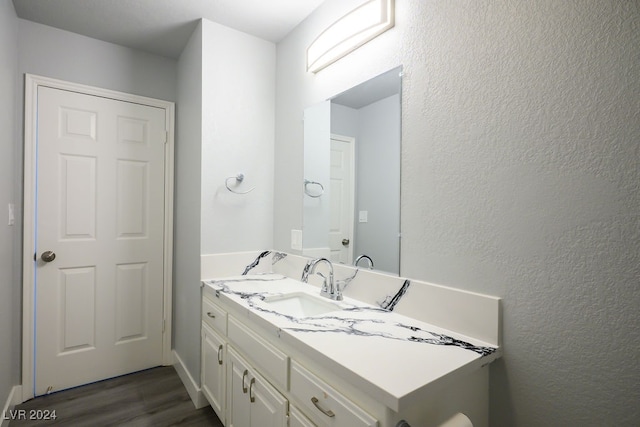
<path id="1" fill-rule="evenodd" d="M 354 144 L 353 138 L 331 136 L 329 259 L 342 264 L 353 262 Z"/>

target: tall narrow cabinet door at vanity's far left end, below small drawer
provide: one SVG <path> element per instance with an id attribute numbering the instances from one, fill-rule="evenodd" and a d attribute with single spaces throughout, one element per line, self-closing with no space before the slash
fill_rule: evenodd
<path id="1" fill-rule="evenodd" d="M 202 391 L 218 415 L 225 419 L 224 341 L 208 327 L 202 326 Z"/>

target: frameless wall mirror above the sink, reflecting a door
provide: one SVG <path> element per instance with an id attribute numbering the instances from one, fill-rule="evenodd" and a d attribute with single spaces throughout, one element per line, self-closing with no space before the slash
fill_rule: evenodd
<path id="1" fill-rule="evenodd" d="M 303 255 L 400 274 L 401 75 L 305 109 Z"/>

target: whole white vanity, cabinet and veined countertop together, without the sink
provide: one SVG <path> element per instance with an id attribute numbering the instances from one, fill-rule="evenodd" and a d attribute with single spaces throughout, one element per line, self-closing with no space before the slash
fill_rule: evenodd
<path id="1" fill-rule="evenodd" d="M 271 297 L 317 293 L 293 279 L 227 282 L 204 282 L 201 307 L 201 396 L 225 427 L 394 427 L 403 419 L 434 427 L 458 412 L 488 426 L 493 359 L 457 346 L 349 333 L 380 326 L 391 334 L 408 325 L 412 336 L 433 335 L 431 325 L 395 313 L 290 317 L 268 305 L 279 301 Z M 388 347 L 377 354 L 379 345 Z M 394 365 L 397 359 L 403 364 Z"/>

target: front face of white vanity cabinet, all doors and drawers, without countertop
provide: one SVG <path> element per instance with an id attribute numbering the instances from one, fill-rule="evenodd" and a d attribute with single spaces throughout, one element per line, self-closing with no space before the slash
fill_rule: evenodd
<path id="1" fill-rule="evenodd" d="M 202 393 L 226 427 L 379 425 L 292 360 L 279 340 L 268 339 L 269 334 L 238 317 L 214 290 L 204 287 Z"/>

